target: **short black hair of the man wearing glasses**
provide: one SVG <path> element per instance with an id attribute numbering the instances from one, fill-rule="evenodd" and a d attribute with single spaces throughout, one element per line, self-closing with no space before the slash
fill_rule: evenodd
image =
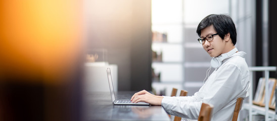
<path id="1" fill-rule="evenodd" d="M 224 14 L 211 14 L 205 17 L 197 27 L 197 34 L 201 36 L 201 30 L 213 25 L 215 31 L 218 35 L 224 39 L 224 36 L 230 33 L 230 38 L 232 39 L 233 44 L 237 42 L 237 30 L 232 18 Z"/>

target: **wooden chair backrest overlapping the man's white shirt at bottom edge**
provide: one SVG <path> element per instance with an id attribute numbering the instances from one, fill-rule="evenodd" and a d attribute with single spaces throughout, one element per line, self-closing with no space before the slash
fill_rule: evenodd
<path id="1" fill-rule="evenodd" d="M 213 105 L 208 103 L 202 103 L 199 112 L 198 121 L 210 121 L 212 117 Z"/>

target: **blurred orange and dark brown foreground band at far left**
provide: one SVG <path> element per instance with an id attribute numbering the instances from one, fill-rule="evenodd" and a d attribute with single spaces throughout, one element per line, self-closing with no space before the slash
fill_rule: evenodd
<path id="1" fill-rule="evenodd" d="M 82 1 L 0 2 L 0 120 L 81 120 Z"/>

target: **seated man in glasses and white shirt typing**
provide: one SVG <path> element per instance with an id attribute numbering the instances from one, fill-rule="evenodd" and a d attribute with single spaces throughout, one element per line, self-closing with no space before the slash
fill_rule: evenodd
<path id="1" fill-rule="evenodd" d="M 235 24 L 227 15 L 209 15 L 199 23 L 197 33 L 215 68 L 200 90 L 186 97 L 156 96 L 143 90 L 132 96 L 132 102 L 161 105 L 167 113 L 188 119 L 198 119 L 205 102 L 214 105 L 211 120 L 232 120 L 237 98 L 247 97 L 250 87 L 246 53 L 235 47 Z"/>

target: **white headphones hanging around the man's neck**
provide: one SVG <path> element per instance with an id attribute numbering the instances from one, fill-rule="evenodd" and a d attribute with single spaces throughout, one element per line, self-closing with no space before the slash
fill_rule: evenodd
<path id="1" fill-rule="evenodd" d="M 232 49 L 231 51 L 227 52 L 227 53 L 224 53 L 224 54 L 221 54 L 217 57 L 213 57 L 212 60 L 211 60 L 211 66 L 214 68 L 214 69 L 217 69 L 221 66 L 222 64 L 222 61 L 231 56 L 232 54 L 236 53 L 238 51 L 237 47 L 235 47 L 234 49 Z"/>

